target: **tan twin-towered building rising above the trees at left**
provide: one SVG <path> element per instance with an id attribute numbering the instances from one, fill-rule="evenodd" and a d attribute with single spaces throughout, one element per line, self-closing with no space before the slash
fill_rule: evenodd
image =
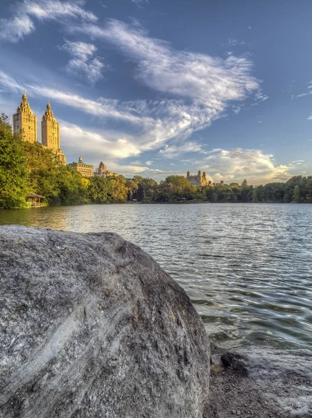
<path id="1" fill-rule="evenodd" d="M 33 114 L 24 91 L 22 102 L 13 115 L 13 132 L 21 133 L 24 141 L 35 144 L 38 139 L 37 116 Z M 48 102 L 47 110 L 42 116 L 41 143 L 53 151 L 62 164 L 66 164 L 66 157 L 61 150 L 60 125 L 53 116 L 51 104 Z"/>

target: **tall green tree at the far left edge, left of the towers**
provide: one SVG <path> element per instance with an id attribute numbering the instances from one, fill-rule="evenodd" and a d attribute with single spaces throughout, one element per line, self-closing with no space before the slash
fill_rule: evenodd
<path id="1" fill-rule="evenodd" d="M 0 118 L 0 208 L 26 206 L 27 173 L 20 135 L 13 134 L 8 116 Z"/>

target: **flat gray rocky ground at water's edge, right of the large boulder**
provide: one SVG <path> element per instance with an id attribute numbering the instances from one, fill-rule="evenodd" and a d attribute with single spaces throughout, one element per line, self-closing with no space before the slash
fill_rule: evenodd
<path id="1" fill-rule="evenodd" d="M 311 351 L 235 348 L 212 358 L 205 418 L 312 417 Z"/>

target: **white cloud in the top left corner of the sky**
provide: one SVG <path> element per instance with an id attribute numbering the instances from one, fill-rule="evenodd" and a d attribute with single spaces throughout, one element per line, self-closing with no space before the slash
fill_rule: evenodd
<path id="1" fill-rule="evenodd" d="M 84 8 L 83 1 L 24 0 L 15 5 L 16 15 L 9 19 L 0 19 L 0 39 L 18 42 L 35 31 L 33 17 L 40 22 L 57 20 L 63 23 L 68 19 L 96 22 L 97 17 Z"/>

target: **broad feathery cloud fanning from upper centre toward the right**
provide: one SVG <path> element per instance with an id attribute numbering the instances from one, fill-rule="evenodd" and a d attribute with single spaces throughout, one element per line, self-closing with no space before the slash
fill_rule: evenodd
<path id="1" fill-rule="evenodd" d="M 251 62 L 229 56 L 215 58 L 205 54 L 175 50 L 146 31 L 117 20 L 106 27 L 82 25 L 76 31 L 107 40 L 137 62 L 137 79 L 150 88 L 189 98 L 198 106 L 219 113 L 226 102 L 243 100 L 258 88 L 249 74 Z"/>

